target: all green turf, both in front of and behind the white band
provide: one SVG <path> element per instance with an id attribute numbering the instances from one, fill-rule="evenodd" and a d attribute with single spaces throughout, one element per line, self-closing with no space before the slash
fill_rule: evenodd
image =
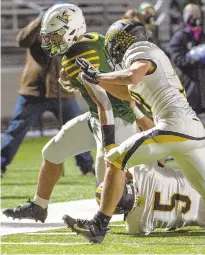
<path id="1" fill-rule="evenodd" d="M 2 179 L 2 208 L 33 198 L 46 141 L 27 139 L 22 144 Z M 74 159 L 68 159 L 65 176 L 56 185 L 51 202 L 93 198 L 94 184 L 94 177 L 80 176 Z M 198 227 L 136 237 L 126 234 L 123 222 L 111 223 L 111 231 L 101 245 L 90 245 L 66 228 L 8 235 L 1 242 L 2 254 L 205 254 L 205 230 Z"/>

